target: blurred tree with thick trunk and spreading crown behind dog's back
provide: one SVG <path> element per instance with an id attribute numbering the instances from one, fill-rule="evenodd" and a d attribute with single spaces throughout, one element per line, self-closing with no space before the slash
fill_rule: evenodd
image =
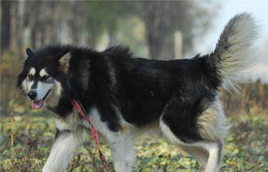
<path id="1" fill-rule="evenodd" d="M 183 52 L 192 49 L 196 27 L 207 31 L 212 11 L 194 1 L 131 1 L 131 13 L 144 20 L 149 54 L 153 59 L 174 59 L 174 33 L 183 33 Z"/>

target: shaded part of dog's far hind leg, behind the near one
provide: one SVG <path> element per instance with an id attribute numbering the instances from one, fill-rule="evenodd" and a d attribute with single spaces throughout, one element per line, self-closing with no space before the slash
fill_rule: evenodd
<path id="1" fill-rule="evenodd" d="M 179 147 L 192 157 L 196 158 L 204 169 L 206 168 L 209 159 L 209 152 L 207 150 L 201 147 L 194 147 L 190 145 L 180 145 Z"/>

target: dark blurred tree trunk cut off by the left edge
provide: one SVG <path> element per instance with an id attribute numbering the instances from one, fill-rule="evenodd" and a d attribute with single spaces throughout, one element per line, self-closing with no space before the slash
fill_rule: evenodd
<path id="1" fill-rule="evenodd" d="M 10 45 L 10 7 L 12 1 L 1 0 L 1 51 Z"/>

